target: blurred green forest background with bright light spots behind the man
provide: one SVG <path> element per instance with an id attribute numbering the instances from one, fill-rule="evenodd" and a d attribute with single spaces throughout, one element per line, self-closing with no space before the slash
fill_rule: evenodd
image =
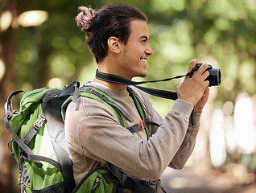
<path id="1" fill-rule="evenodd" d="M 239 166 L 242 174 L 256 173 L 255 0 L 0 0 L 0 192 L 15 192 L 19 172 L 2 122 L 10 92 L 93 80 L 97 64 L 74 18 L 78 6 L 117 2 L 147 15 L 154 55 L 144 80 L 183 75 L 193 58 L 221 69 L 221 85 L 211 88 L 186 167 L 228 172 Z M 22 14 L 30 10 L 45 12 L 25 21 Z M 36 17 L 43 20 L 31 24 Z M 147 86 L 175 91 L 180 81 Z M 150 97 L 164 117 L 173 101 Z"/>

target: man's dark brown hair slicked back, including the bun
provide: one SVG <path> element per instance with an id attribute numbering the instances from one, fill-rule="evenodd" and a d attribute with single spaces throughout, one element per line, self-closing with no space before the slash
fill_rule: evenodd
<path id="1" fill-rule="evenodd" d="M 107 43 L 111 36 L 126 44 L 130 36 L 130 21 L 147 21 L 141 10 L 125 4 L 111 4 L 98 11 L 90 6 L 81 6 L 79 9 L 81 13 L 76 16 L 76 23 L 85 31 L 86 43 L 93 51 L 97 64 L 108 54 Z"/>

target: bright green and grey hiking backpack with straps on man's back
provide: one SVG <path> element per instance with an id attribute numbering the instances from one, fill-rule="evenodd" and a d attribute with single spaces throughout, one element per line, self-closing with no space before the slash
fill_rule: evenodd
<path id="1" fill-rule="evenodd" d="M 39 88 L 25 92 L 20 101 L 20 110 L 12 107 L 11 98 L 20 92 L 12 92 L 5 105 L 4 123 L 10 132 L 8 144 L 19 165 L 19 184 L 25 192 L 115 192 L 120 186 L 133 192 L 154 192 L 154 189 L 124 175 L 116 167 L 107 163 L 95 168 L 76 186 L 72 162 L 65 142 L 63 109 L 70 101 L 86 96 L 101 101 L 126 127 L 125 119 L 130 116 L 108 95 L 93 87 L 79 88 L 76 80 L 65 88 Z M 132 133 L 156 125 L 147 121 L 146 113 L 136 94 L 129 88 L 130 95 L 138 108 L 142 124 L 127 128 Z M 127 179 L 126 182 L 123 179 Z M 122 182 L 123 181 L 123 182 Z"/>

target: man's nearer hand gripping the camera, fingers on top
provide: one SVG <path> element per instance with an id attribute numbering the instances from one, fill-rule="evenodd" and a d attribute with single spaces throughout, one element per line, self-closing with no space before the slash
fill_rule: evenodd
<path id="1" fill-rule="evenodd" d="M 191 72 L 196 64 L 197 60 L 192 60 L 189 64 L 188 72 Z M 196 72 L 194 72 L 191 78 L 189 76 L 185 77 L 184 81 L 176 87 L 178 99 L 188 101 L 194 106 L 200 101 L 205 89 L 209 86 L 209 80 L 205 81 L 209 76 L 209 72 L 206 71 L 207 68 L 208 64 L 203 64 Z"/>

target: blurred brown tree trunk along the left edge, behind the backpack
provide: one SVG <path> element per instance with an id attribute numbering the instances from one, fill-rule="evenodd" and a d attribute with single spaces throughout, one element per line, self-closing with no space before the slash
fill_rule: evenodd
<path id="1" fill-rule="evenodd" d="M 15 74 L 14 74 L 14 62 L 16 49 L 18 44 L 18 14 L 23 11 L 23 6 L 20 6 L 21 2 L 18 0 L 3 0 L 2 1 L 2 12 L 8 10 L 13 16 L 13 23 L 6 31 L 1 31 L 1 42 L 0 42 L 0 60 L 2 60 L 5 66 L 5 73 L 0 79 L 0 133 L 2 134 L 2 152 L 0 152 L 2 158 L 2 164 L 0 166 L 0 192 L 2 193 L 14 193 L 17 192 L 17 181 L 13 182 L 13 166 L 14 158 L 10 154 L 10 150 L 7 146 L 10 141 L 10 133 L 8 133 L 4 123 L 4 103 L 10 92 L 14 91 Z"/>

